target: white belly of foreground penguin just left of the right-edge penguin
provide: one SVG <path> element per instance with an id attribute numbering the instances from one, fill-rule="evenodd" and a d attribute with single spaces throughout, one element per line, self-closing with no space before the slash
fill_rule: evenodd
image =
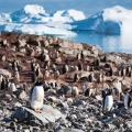
<path id="1" fill-rule="evenodd" d="M 113 97 L 107 96 L 105 100 L 105 111 L 110 111 L 113 106 Z"/>

